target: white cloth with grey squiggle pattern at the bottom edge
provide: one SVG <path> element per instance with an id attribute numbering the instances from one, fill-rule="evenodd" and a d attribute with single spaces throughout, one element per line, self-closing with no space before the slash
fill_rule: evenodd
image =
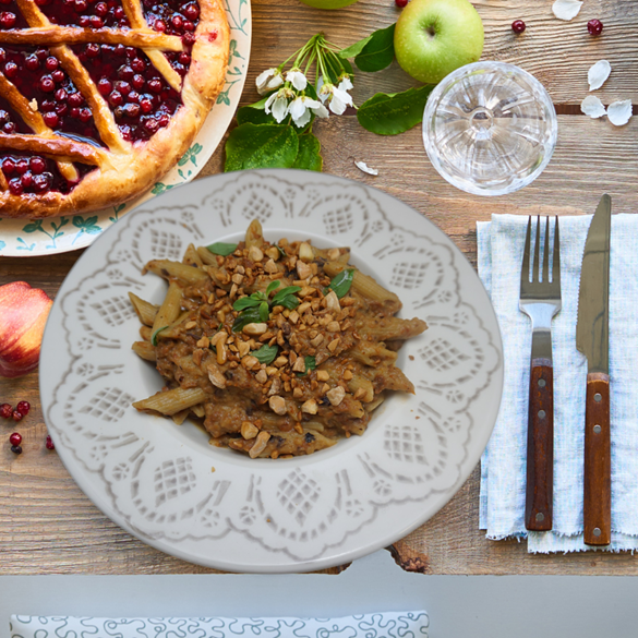
<path id="1" fill-rule="evenodd" d="M 11 638 L 428 638 L 428 614 L 383 612 L 341 618 L 89 618 L 11 616 Z"/>

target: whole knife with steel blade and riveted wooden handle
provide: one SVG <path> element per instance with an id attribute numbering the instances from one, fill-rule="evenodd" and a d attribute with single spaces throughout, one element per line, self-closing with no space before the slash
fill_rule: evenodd
<path id="1" fill-rule="evenodd" d="M 587 357 L 582 525 L 588 545 L 609 545 L 612 527 L 609 298 L 612 198 L 603 195 L 587 233 L 576 347 Z"/>

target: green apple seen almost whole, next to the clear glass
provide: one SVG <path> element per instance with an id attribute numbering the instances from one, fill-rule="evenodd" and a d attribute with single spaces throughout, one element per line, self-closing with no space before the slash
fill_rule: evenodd
<path id="1" fill-rule="evenodd" d="M 436 84 L 476 62 L 483 37 L 481 16 L 468 0 L 411 0 L 395 28 L 395 55 L 414 80 Z"/>

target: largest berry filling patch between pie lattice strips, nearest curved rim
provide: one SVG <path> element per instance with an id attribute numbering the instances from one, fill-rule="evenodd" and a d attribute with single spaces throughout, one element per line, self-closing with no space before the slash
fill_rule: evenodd
<path id="1" fill-rule="evenodd" d="M 73 47 L 81 59 L 83 49 Z M 124 140 L 148 140 L 182 104 L 141 49 L 101 45 L 99 53 L 85 57 L 83 63 L 113 111 Z"/>

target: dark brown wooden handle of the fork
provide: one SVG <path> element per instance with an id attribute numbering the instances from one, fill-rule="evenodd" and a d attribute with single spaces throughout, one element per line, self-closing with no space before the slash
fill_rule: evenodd
<path id="1" fill-rule="evenodd" d="M 525 527 L 552 529 L 554 498 L 554 370 L 546 359 L 532 359 L 527 425 Z"/>

